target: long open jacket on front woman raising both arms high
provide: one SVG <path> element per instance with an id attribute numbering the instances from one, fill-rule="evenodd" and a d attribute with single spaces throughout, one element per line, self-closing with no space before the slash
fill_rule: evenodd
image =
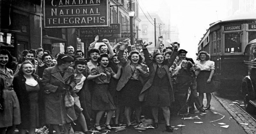
<path id="1" fill-rule="evenodd" d="M 157 68 L 157 64 L 156 62 L 153 62 L 150 58 L 149 58 L 149 53 L 148 53 L 148 49 L 143 49 L 143 53 L 145 56 L 145 62 L 149 67 L 149 79 L 148 81 L 145 83 L 144 87 L 142 88 L 140 95 L 139 95 L 139 100 L 140 101 L 144 101 L 145 98 L 145 94 L 146 91 L 151 87 L 153 80 L 155 78 L 156 75 L 156 68 Z M 172 52 L 171 58 L 170 59 L 165 59 L 163 64 L 164 70 L 166 71 L 166 74 L 168 76 L 169 79 L 169 83 L 171 85 L 171 89 L 170 89 L 170 102 L 174 101 L 174 92 L 173 92 L 173 85 L 172 85 L 172 81 L 171 81 L 171 76 L 169 73 L 169 68 L 172 66 L 174 60 L 176 59 L 178 55 L 177 49 L 174 49 L 174 51 Z"/>

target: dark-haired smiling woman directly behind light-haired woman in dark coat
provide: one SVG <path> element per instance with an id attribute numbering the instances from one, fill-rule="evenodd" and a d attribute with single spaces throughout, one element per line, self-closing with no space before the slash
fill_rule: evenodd
<path id="1" fill-rule="evenodd" d="M 24 50 L 22 51 L 22 60 L 21 60 L 21 63 L 24 62 L 25 60 L 29 60 L 35 69 L 37 69 L 37 65 L 35 65 L 35 56 L 36 56 L 36 50 L 34 49 L 30 49 L 29 51 L 28 50 Z M 21 64 L 18 64 L 17 67 L 16 67 L 16 70 L 15 70 L 15 73 L 14 73 L 14 77 L 18 76 L 19 74 L 19 70 L 20 70 L 20 66 Z"/>

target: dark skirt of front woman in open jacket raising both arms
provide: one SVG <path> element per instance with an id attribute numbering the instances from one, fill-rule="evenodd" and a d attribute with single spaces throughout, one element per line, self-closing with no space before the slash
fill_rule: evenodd
<path id="1" fill-rule="evenodd" d="M 145 106 L 171 106 L 170 87 L 151 86 L 145 97 Z"/>

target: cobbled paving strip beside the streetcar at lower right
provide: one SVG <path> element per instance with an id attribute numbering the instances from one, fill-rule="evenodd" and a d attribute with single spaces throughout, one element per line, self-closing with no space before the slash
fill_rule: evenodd
<path id="1" fill-rule="evenodd" d="M 213 93 L 213 97 L 220 102 L 220 104 L 228 111 L 238 124 L 248 123 L 248 125 L 240 124 L 244 128 L 245 132 L 248 134 L 256 133 L 256 122 L 248 114 L 236 106 L 230 99 L 221 98 L 215 92 Z"/>

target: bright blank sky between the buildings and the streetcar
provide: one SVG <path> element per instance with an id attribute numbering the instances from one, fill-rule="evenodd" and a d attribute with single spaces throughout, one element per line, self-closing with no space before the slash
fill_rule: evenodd
<path id="1" fill-rule="evenodd" d="M 144 12 L 157 13 L 168 24 L 179 28 L 180 49 L 196 58 L 197 45 L 209 24 L 227 16 L 227 0 L 138 0 Z M 140 11 L 140 13 L 142 13 Z M 173 41 L 172 41 L 173 42 Z"/>

